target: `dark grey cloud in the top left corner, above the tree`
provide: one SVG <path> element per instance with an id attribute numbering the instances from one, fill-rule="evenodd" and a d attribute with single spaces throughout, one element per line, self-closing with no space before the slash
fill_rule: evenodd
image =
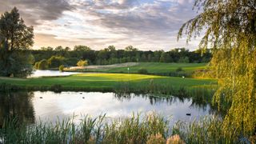
<path id="1" fill-rule="evenodd" d="M 0 1 L 0 13 L 18 7 L 22 18 L 29 25 L 40 25 L 38 20 L 55 20 L 62 16 L 65 10 L 72 10 L 65 0 L 7 0 Z"/>

